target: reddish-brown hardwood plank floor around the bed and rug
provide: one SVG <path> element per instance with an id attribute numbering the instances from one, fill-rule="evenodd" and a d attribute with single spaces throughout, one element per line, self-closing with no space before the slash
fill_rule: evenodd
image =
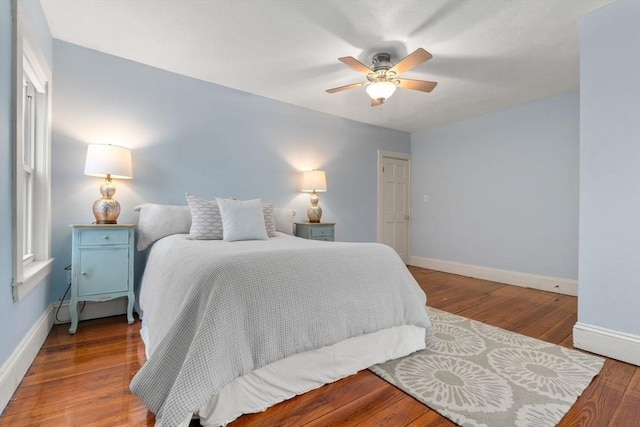
<path id="1" fill-rule="evenodd" d="M 410 268 L 428 304 L 524 335 L 571 347 L 575 297 Z M 144 363 L 140 322 L 124 316 L 53 328 L 7 405 L 0 426 L 153 426 L 129 392 Z M 640 368 L 607 359 L 561 426 L 638 426 Z M 230 426 L 452 426 L 453 423 L 369 371 L 361 371 Z"/>

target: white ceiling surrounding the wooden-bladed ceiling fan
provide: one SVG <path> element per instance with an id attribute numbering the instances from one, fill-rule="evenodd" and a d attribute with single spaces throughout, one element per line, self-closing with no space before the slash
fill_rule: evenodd
<path id="1" fill-rule="evenodd" d="M 613 0 L 41 0 L 53 37 L 197 79 L 414 132 L 577 89 L 579 18 Z M 338 62 L 433 59 L 372 108 Z"/>

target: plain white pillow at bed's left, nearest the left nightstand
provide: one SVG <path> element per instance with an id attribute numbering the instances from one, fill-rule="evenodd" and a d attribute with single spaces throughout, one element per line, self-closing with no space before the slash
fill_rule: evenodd
<path id="1" fill-rule="evenodd" d="M 158 239 L 171 234 L 186 234 L 191 227 L 188 206 L 158 205 L 145 203 L 134 208 L 138 216 L 139 251 L 147 249 Z"/>

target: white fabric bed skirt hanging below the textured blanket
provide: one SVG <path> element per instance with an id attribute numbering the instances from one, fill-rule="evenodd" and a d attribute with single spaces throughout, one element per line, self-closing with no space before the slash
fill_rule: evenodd
<path id="1" fill-rule="evenodd" d="M 144 320 L 140 335 L 148 347 Z M 227 384 L 194 415 L 200 417 L 203 426 L 224 426 L 242 414 L 262 412 L 276 403 L 424 347 L 424 328 L 404 325 L 294 354 Z M 186 427 L 190 421 L 191 416 L 180 426 Z"/>

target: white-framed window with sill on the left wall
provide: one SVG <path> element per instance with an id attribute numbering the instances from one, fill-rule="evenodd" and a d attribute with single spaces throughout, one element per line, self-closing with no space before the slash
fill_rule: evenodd
<path id="1" fill-rule="evenodd" d="M 41 283 L 53 267 L 51 258 L 51 70 L 18 10 L 14 51 L 14 197 L 13 299 L 19 301 Z M 25 82 L 32 85 L 32 109 Z M 27 131 L 31 117 L 33 127 Z M 34 132 L 33 146 L 29 134 Z M 25 137 L 26 135 L 26 137 Z M 27 147 L 31 152 L 25 151 Z M 26 154 L 26 156 L 25 156 Z M 26 157 L 26 158 L 25 158 Z M 29 182 L 30 181 L 30 182 Z M 30 248 L 29 248 L 30 246 Z M 29 250 L 30 249 L 30 250 Z"/>

